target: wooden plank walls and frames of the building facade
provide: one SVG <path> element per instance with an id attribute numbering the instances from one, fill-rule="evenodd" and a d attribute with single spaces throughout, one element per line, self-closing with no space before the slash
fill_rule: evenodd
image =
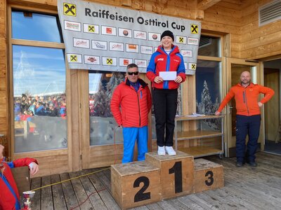
<path id="1" fill-rule="evenodd" d="M 169 15 L 190 20 L 199 20 L 202 23 L 202 36 L 219 39 L 220 52 L 212 55 L 211 48 L 198 56 L 199 61 L 219 63 L 221 98 L 226 95 L 230 86 L 237 83 L 240 72 L 250 70 L 253 73 L 254 82 L 263 85 L 263 61 L 279 59 L 281 57 L 281 21 L 275 21 L 267 25 L 259 26 L 259 8 L 272 0 L 186 0 L 186 1 L 93 1 L 111 6 L 124 7 L 132 10 L 143 10 L 150 13 Z M 65 70 L 65 102 L 67 106 L 67 146 L 64 148 L 50 148 L 46 150 L 20 151 L 15 145 L 15 110 L 14 110 L 14 79 L 13 48 L 14 45 L 64 49 L 63 43 L 51 41 L 28 41 L 14 38 L 13 11 L 27 11 L 27 13 L 39 13 L 57 15 L 56 0 L 0 0 L 0 133 L 6 136 L 6 156 L 22 158 L 30 156 L 37 158 L 41 165 L 38 176 L 74 172 L 80 169 L 105 167 L 119 162 L 122 157 L 122 144 L 106 144 L 103 146 L 89 145 L 91 126 L 89 125 L 89 71 L 67 69 Z M 28 14 L 27 14 L 28 16 Z M 204 66 L 204 64 L 203 64 Z M 204 66 L 208 67 L 208 66 Z M 254 69 L 254 70 L 253 70 Z M 279 75 L 279 74 L 278 74 Z M 142 75 L 145 79 L 145 76 Z M 270 78 L 268 78 L 270 83 Z M 187 76 L 186 83 L 181 87 L 182 114 L 187 115 L 196 112 L 196 76 Z M 279 80 L 277 80 L 279 83 Z M 275 82 L 274 82 L 275 84 Z M 273 86 L 274 86 L 273 84 Z M 275 84 L 279 91 L 279 86 Z M 211 88 L 211 87 L 209 87 Z M 280 113 L 280 97 L 273 104 L 275 111 Z M 224 145 L 226 155 L 231 155 L 231 148 L 235 147 L 232 141 L 233 118 L 228 106 L 224 131 Z M 280 114 L 267 111 L 268 118 L 276 118 L 280 123 Z M 264 116 L 264 112 L 263 112 Z M 262 121 L 260 143 L 263 150 L 265 136 L 264 120 Z M 61 123 L 61 122 L 57 122 Z M 276 125 L 276 126 L 277 126 Z M 22 124 L 22 129 L 31 129 Z M 197 126 L 196 123 L 183 123 L 182 130 L 188 131 Z M 152 141 L 152 119 L 150 118 L 150 149 L 155 148 Z M 44 135 L 48 141 L 50 135 Z M 51 137 L 50 137 L 51 138 Z M 28 140 L 28 138 L 27 138 Z M 22 142 L 25 144 L 25 142 Z M 212 143 L 212 139 L 209 142 Z M 197 140 L 182 141 L 179 146 L 189 148 L 196 146 Z"/>

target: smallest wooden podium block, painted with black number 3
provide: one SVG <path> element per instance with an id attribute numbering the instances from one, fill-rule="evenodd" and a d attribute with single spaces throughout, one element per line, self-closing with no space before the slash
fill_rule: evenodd
<path id="1" fill-rule="evenodd" d="M 223 166 L 202 158 L 194 161 L 195 193 L 214 190 L 224 186 Z"/>

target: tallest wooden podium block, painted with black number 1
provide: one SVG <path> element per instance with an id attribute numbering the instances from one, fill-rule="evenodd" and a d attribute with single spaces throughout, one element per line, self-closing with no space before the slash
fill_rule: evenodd
<path id="1" fill-rule="evenodd" d="M 176 155 L 146 153 L 145 161 L 160 169 L 161 200 L 194 193 L 194 159 L 177 151 Z"/>

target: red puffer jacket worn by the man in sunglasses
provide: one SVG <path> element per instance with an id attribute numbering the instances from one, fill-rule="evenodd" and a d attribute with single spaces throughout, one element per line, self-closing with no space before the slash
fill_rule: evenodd
<path id="1" fill-rule="evenodd" d="M 123 127 L 143 127 L 148 125 L 148 113 L 152 101 L 151 94 L 143 80 L 138 79 L 138 92 L 125 80 L 112 94 L 110 109 L 118 125 Z M 120 110 L 121 106 L 121 110 Z"/>

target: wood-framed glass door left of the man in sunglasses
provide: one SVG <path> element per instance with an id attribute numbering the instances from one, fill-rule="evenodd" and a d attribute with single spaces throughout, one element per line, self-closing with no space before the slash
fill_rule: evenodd
<path id="1" fill-rule="evenodd" d="M 82 168 L 107 167 L 119 163 L 123 154 L 122 128 L 110 111 L 115 87 L 125 73 L 79 71 L 81 83 Z"/>

